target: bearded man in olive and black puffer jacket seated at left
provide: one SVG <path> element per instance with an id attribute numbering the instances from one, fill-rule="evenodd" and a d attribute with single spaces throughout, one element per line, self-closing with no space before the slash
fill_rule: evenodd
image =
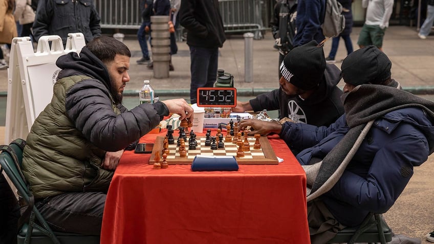
<path id="1" fill-rule="evenodd" d="M 32 125 L 23 173 L 35 206 L 57 231 L 99 235 L 106 192 L 123 149 L 163 116 L 190 117 L 184 99 L 127 110 L 122 93 L 131 53 L 112 37 L 97 37 L 80 52 L 57 59 L 51 103 Z"/>

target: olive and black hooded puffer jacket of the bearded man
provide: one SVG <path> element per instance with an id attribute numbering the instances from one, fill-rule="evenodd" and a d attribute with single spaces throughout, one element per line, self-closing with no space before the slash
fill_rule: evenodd
<path id="1" fill-rule="evenodd" d="M 113 171 L 100 167 L 168 115 L 162 102 L 127 110 L 115 104 L 105 65 L 84 47 L 58 58 L 53 99 L 27 137 L 23 173 L 35 198 L 65 192 L 106 192 Z"/>

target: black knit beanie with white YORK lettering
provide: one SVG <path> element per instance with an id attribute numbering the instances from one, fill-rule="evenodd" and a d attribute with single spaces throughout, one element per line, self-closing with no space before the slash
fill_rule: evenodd
<path id="1" fill-rule="evenodd" d="M 292 49 L 280 64 L 280 74 L 296 87 L 309 91 L 315 88 L 324 75 L 326 57 L 315 40 Z"/>

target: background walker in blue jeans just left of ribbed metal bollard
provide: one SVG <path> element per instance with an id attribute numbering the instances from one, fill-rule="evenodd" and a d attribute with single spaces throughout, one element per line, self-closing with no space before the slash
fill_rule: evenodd
<path id="1" fill-rule="evenodd" d="M 150 60 L 146 34 L 148 34 L 150 30 L 150 15 L 153 11 L 153 0 L 141 0 L 140 10 L 143 22 L 137 31 L 137 39 L 139 40 L 140 49 L 142 50 L 142 58 L 137 60 L 137 63 L 145 64 Z"/>

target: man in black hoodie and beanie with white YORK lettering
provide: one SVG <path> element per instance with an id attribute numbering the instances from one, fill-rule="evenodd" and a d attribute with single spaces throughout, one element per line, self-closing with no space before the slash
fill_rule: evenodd
<path id="1" fill-rule="evenodd" d="M 322 46 L 313 40 L 292 49 L 279 66 L 282 77 L 280 87 L 261 94 L 248 102 L 237 101 L 234 112 L 255 112 L 279 109 L 279 119 L 289 118 L 294 122 L 317 126 L 333 123 L 343 113 L 336 86 L 341 79 L 340 70 L 334 64 L 327 64 Z M 243 124 L 253 126 L 250 134 L 266 135 L 269 124 L 254 124 L 262 121 L 248 120 Z"/>

